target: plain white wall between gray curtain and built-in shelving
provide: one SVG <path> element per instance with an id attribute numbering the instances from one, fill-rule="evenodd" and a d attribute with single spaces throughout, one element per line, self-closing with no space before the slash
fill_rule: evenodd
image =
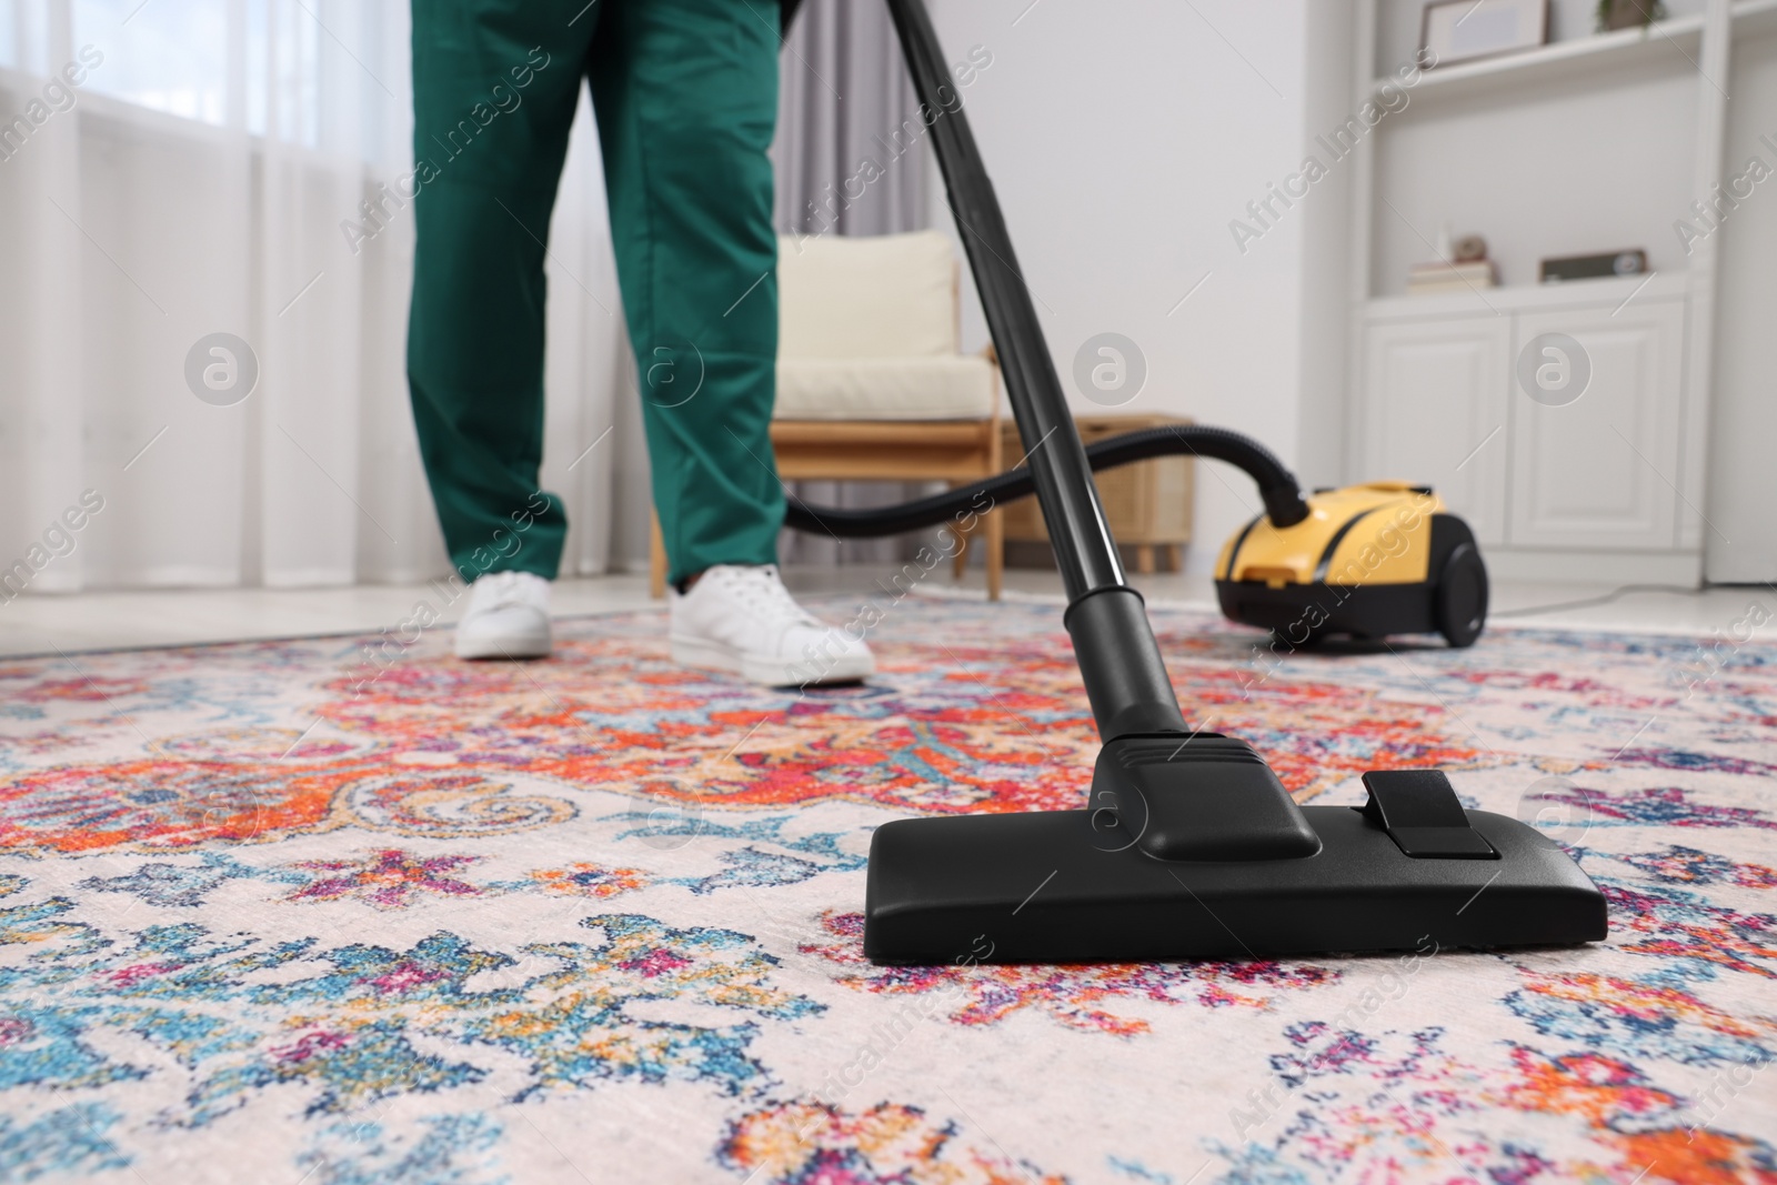
<path id="1" fill-rule="evenodd" d="M 1336 359 L 1324 387 L 1304 373 L 1327 366 L 1338 345 L 1324 327 L 1304 334 L 1303 309 L 1308 286 L 1326 284 L 1308 263 L 1304 226 L 1327 217 L 1315 204 L 1336 204 L 1336 190 L 1310 190 L 1244 254 L 1228 229 L 1267 183 L 1297 169 L 1308 130 L 1333 121 L 1310 114 L 1326 85 L 1308 66 L 1343 50 L 1338 37 L 1310 50 L 1308 7 L 931 0 L 951 60 L 976 44 L 993 53 L 961 92 L 965 110 L 1075 412 L 1104 410 L 1073 391 L 1070 373 L 1077 348 L 1105 330 L 1134 339 L 1148 361 L 1144 391 L 1120 410 L 1237 428 L 1288 464 L 1303 460 L 1308 387 L 1306 398 L 1340 398 Z M 947 226 L 942 190 L 931 208 Z M 967 307 L 963 348 L 977 348 L 986 330 L 977 306 Z M 1336 444 L 1327 457 L 1336 465 Z M 1304 480 L 1324 476 L 1319 467 Z M 1203 464 L 1187 567 L 1207 570 L 1223 537 L 1258 510 L 1242 474 Z"/>

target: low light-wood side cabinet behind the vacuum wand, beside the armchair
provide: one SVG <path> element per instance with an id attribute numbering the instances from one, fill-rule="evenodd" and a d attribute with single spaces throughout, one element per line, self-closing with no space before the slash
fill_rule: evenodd
<path id="1" fill-rule="evenodd" d="M 1139 428 L 1162 428 L 1166 425 L 1189 425 L 1178 416 L 1075 416 L 1082 444 L 1095 444 L 1105 437 L 1136 432 Z M 1006 462 L 1024 458 L 1024 446 L 1018 441 L 1018 426 L 1009 419 L 1002 423 Z M 1157 457 L 1120 469 L 1100 469 L 1098 499 L 1104 503 L 1105 519 L 1118 544 L 1136 549 L 1136 569 L 1139 572 L 1155 570 L 1155 547 L 1167 560 L 1167 567 L 1180 563 L 1180 547 L 1191 542 L 1191 501 L 1192 501 L 1192 458 Z M 1022 544 L 1048 542 L 1043 529 L 1043 512 L 1034 497 L 1024 497 L 1008 505 L 1006 540 Z"/>

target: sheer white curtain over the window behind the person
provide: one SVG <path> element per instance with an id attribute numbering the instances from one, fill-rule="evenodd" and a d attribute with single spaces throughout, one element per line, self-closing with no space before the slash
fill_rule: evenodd
<path id="1" fill-rule="evenodd" d="M 4 595 L 446 570 L 403 366 L 410 103 L 393 0 L 0 0 Z M 563 574 L 606 569 L 617 448 L 586 448 L 633 398 L 585 107 L 549 242 Z M 211 334 L 251 357 L 194 355 Z"/>

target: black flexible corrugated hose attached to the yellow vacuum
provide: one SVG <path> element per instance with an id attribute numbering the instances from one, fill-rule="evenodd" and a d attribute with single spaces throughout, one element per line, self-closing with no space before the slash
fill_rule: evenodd
<path id="1" fill-rule="evenodd" d="M 1274 526 L 1295 526 L 1308 517 L 1308 503 L 1295 483 L 1295 474 L 1285 469 L 1276 453 L 1258 441 L 1244 437 L 1239 432 L 1228 432 L 1226 428 L 1173 425 L 1125 432 L 1109 441 L 1089 444 L 1086 448 L 1086 460 L 1093 471 L 1098 471 L 1132 465 L 1137 460 L 1151 460 L 1155 457 L 1175 457 L 1178 453 L 1224 460 L 1246 471 L 1258 483 L 1258 494 L 1265 499 L 1265 513 Z M 894 506 L 873 506 L 869 510 L 810 506 L 793 496 L 784 508 L 784 526 L 798 531 L 842 535 L 846 538 L 903 535 L 926 526 L 936 526 L 970 510 L 979 513 L 983 510 L 983 496 L 988 499 L 986 505 L 993 506 L 1029 497 L 1034 492 L 1036 481 L 1031 478 L 1031 469 L 1022 465 L 944 494 Z"/>

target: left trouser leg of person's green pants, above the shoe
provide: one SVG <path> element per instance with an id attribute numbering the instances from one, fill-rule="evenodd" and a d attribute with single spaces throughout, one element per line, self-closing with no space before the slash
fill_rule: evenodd
<path id="1" fill-rule="evenodd" d="M 412 0 L 419 453 L 464 579 L 553 579 L 567 517 L 542 494 L 544 240 L 597 9 Z M 602 5 L 601 5 L 602 7 Z"/>

